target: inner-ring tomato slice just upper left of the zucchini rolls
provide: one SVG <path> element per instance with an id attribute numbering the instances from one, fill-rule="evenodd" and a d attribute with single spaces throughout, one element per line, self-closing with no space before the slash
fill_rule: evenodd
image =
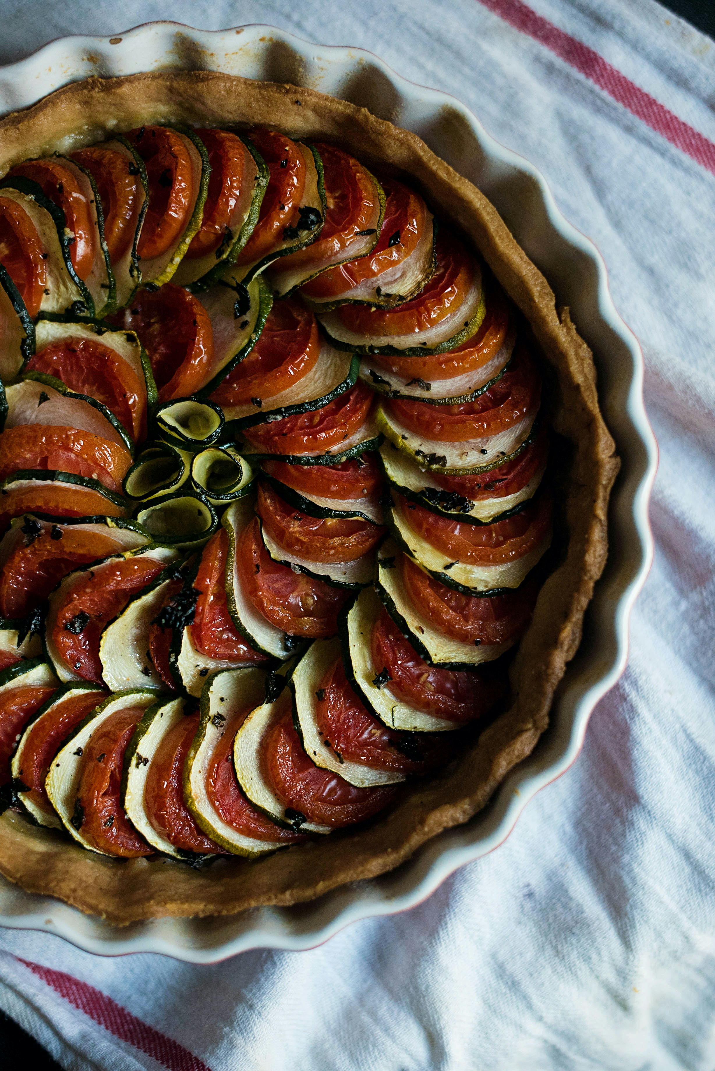
<path id="1" fill-rule="evenodd" d="M 30 358 L 27 367 L 55 376 L 70 390 L 101 402 L 134 440 L 146 435 L 146 383 L 119 353 L 99 340 L 51 343 Z"/>

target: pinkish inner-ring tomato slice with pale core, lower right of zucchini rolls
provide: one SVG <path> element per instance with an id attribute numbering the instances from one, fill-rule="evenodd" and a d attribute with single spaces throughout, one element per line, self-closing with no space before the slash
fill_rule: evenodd
<path id="1" fill-rule="evenodd" d="M 259 614 L 289 636 L 334 636 L 338 615 L 351 592 L 331 588 L 288 565 L 273 561 L 255 518 L 241 532 L 236 548 L 241 587 Z"/>

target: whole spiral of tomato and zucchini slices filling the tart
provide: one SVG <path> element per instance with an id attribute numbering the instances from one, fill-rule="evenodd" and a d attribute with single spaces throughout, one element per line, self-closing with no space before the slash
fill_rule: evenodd
<path id="1" fill-rule="evenodd" d="M 551 540 L 536 356 L 408 180 L 143 126 L 0 181 L 0 786 L 258 856 L 498 708 Z"/>

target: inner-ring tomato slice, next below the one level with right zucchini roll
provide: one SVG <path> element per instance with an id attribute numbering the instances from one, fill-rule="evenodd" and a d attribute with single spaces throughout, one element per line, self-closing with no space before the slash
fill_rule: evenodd
<path id="1" fill-rule="evenodd" d="M 258 484 L 256 512 L 283 550 L 307 561 L 355 561 L 369 554 L 385 529 L 369 521 L 309 517 L 288 506 L 269 484 Z"/>

